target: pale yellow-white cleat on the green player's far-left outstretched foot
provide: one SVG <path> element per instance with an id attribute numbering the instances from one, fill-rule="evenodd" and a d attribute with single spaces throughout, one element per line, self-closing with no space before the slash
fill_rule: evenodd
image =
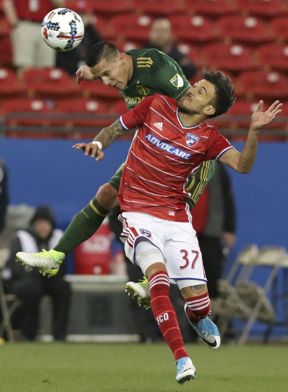
<path id="1" fill-rule="evenodd" d="M 56 250 L 42 249 L 38 253 L 18 252 L 16 254 L 16 261 L 22 262 L 22 265 L 27 265 L 27 268 L 37 268 L 45 276 L 54 276 L 57 274 L 65 254 L 57 252 Z"/>

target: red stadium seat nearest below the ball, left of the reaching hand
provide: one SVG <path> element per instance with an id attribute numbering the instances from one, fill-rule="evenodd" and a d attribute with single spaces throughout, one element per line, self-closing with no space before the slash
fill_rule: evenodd
<path id="1" fill-rule="evenodd" d="M 30 68 L 23 73 L 23 83 L 30 93 L 44 96 L 69 96 L 79 93 L 75 79 L 63 69 Z M 73 83 L 73 84 L 72 84 Z"/>

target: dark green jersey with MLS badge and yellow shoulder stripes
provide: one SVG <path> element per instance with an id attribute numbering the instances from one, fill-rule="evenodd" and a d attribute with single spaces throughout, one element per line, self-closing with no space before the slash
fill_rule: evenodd
<path id="1" fill-rule="evenodd" d="M 157 49 L 132 49 L 126 54 L 132 56 L 133 74 L 120 93 L 128 109 L 154 94 L 180 99 L 191 87 L 180 66 L 167 54 Z"/>

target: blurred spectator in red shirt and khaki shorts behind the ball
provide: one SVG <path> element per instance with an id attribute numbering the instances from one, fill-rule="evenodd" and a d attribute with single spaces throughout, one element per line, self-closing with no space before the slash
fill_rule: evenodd
<path id="1" fill-rule="evenodd" d="M 41 36 L 41 22 L 52 9 L 62 7 L 64 0 L 3 0 L 3 10 L 12 31 L 13 65 L 54 67 L 55 51 Z"/>

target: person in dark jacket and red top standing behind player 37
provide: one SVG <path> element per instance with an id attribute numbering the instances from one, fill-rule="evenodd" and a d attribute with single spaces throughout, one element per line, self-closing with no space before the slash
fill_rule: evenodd
<path id="1" fill-rule="evenodd" d="M 218 296 L 217 280 L 225 262 L 223 250 L 229 252 L 236 241 L 233 192 L 229 174 L 221 163 L 215 163 L 215 172 L 191 215 L 202 252 L 209 297 L 213 299 Z"/>

